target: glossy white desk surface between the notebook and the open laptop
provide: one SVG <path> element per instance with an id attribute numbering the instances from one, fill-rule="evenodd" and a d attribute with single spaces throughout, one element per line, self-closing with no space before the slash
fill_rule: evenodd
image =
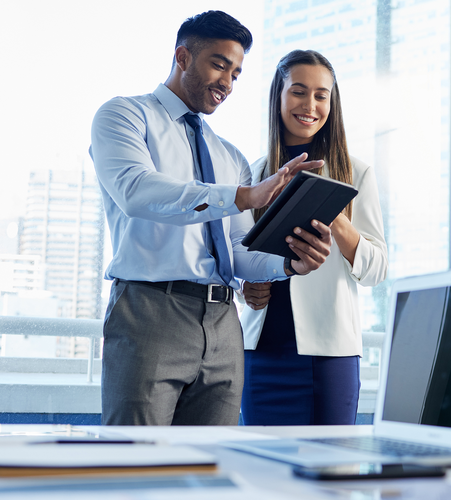
<path id="1" fill-rule="evenodd" d="M 0 432 L 55 429 L 52 425 L 4 425 Z M 98 426 L 83 426 L 99 429 Z M 108 426 L 102 430 L 119 432 L 131 438 L 162 439 L 172 443 L 189 443 L 212 452 L 218 458 L 221 472 L 238 473 L 248 483 L 262 488 L 274 497 L 323 500 L 444 500 L 451 498 L 451 475 L 444 478 L 412 478 L 359 481 L 311 481 L 293 476 L 291 466 L 275 460 L 224 448 L 217 442 L 239 438 L 326 437 L 368 435 L 372 425 L 336 426 L 238 426 L 238 427 L 125 427 Z M 276 494 L 277 493 L 277 494 Z M 182 495 L 180 495 L 182 497 Z"/>

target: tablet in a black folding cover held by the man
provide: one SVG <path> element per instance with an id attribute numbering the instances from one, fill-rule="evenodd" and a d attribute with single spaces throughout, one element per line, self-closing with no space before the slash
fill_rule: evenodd
<path id="1" fill-rule="evenodd" d="M 319 236 L 311 220 L 329 225 L 357 192 L 350 184 L 305 170 L 297 172 L 241 243 L 248 246 L 248 251 L 258 250 L 299 260 L 285 241 L 286 236 L 302 239 L 293 233 L 294 227 Z"/>

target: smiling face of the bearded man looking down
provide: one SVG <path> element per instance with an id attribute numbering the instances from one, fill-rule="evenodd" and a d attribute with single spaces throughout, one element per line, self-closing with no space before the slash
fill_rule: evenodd
<path id="1" fill-rule="evenodd" d="M 189 106 L 196 112 L 213 113 L 232 91 L 243 59 L 244 49 L 232 40 L 217 40 L 201 50 L 182 74 Z"/>

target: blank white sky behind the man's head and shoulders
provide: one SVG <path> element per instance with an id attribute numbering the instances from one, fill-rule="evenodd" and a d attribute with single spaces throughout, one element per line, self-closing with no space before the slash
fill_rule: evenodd
<path id="1" fill-rule="evenodd" d="M 31 169 L 74 168 L 87 153 L 97 108 L 152 92 L 170 71 L 186 17 L 222 8 L 254 46 L 232 95 L 207 121 L 249 162 L 260 152 L 262 0 L 2 1 L 0 6 L 0 219 L 23 215 Z"/>

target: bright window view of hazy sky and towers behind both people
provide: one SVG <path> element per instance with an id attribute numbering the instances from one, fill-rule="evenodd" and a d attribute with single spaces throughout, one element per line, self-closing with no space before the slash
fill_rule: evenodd
<path id="1" fill-rule="evenodd" d="M 123 2 L 103 0 L 3 7 L 3 315 L 103 317 L 111 244 L 87 153 L 92 117 L 113 96 L 164 82 L 180 23 L 204 5 L 136 0 L 127 15 Z M 359 287 L 359 296 L 363 330 L 383 331 L 393 279 L 448 267 L 449 2 L 232 0 L 224 8 L 249 27 L 254 44 L 233 94 L 206 120 L 249 163 L 265 153 L 267 96 L 280 57 L 312 48 L 335 69 L 350 154 L 373 165 L 378 181 L 390 268 L 384 283 Z M 70 331 L 33 338 L 1 331 L 0 361 L 20 371 L 31 370 L 31 358 L 86 358 L 87 338 Z M 371 368 L 378 351 L 368 349 Z"/>

